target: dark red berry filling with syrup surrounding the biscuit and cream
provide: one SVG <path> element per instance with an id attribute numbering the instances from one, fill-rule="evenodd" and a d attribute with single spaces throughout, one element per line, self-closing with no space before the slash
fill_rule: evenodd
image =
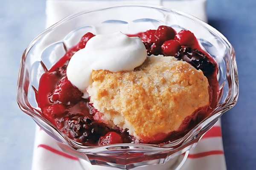
<path id="1" fill-rule="evenodd" d="M 97 116 L 98 111 L 89 105 L 89 99 L 81 97 L 83 96 L 81 91 L 67 79 L 66 68 L 70 58 L 84 48 L 87 41 L 94 36 L 88 32 L 49 71 L 45 68 L 46 72 L 41 76 L 38 91 L 36 91 L 36 100 L 42 110 L 42 116 L 58 127 L 67 137 L 87 146 L 143 143 L 130 136 L 127 130 L 118 127 L 110 129 L 104 123 L 94 120 L 93 116 Z M 189 132 L 216 107 L 219 95 L 218 66 L 215 60 L 201 49 L 194 34 L 190 31 L 182 30 L 177 34 L 171 27 L 159 26 L 157 30 L 148 30 L 128 36 L 140 37 L 148 55 L 174 56 L 202 70 L 208 79 L 210 106 L 198 108 L 192 115 L 186 117 L 180 128 L 170 133 L 168 138 L 150 143 L 174 141 Z"/>

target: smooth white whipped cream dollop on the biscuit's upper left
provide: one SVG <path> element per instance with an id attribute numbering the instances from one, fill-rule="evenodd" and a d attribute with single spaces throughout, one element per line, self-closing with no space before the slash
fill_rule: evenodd
<path id="1" fill-rule="evenodd" d="M 67 79 L 84 93 L 93 83 L 92 70 L 131 71 L 143 64 L 147 51 L 139 37 L 121 32 L 96 35 L 77 51 L 67 65 Z"/>

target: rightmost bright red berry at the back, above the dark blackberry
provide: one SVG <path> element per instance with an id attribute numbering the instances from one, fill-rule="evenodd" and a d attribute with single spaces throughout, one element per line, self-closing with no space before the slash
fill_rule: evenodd
<path id="1" fill-rule="evenodd" d="M 181 30 L 176 36 L 175 40 L 180 42 L 180 45 L 192 46 L 197 42 L 195 35 L 187 30 Z"/>

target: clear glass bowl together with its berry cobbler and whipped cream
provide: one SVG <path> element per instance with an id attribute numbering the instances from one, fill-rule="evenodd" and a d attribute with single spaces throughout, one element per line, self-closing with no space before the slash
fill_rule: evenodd
<path id="1" fill-rule="evenodd" d="M 140 15 L 125 18 L 125 10 L 131 9 L 145 10 L 154 13 L 155 17 L 151 20 L 145 20 Z M 70 35 L 64 30 L 62 32 L 65 35 L 59 36 L 56 32 L 58 28 L 65 24 L 70 26 L 69 22 L 78 23 L 77 19 L 83 15 L 108 10 L 124 10 L 124 15 L 121 12 L 120 16 L 115 16 L 117 18 L 111 21 L 115 28 L 108 33 L 122 31 L 129 37 L 122 33 L 107 34 L 105 30 L 98 29 L 101 28 L 99 23 L 105 26 L 102 28 L 108 28 L 109 22 L 102 21 L 105 15 L 99 18 L 98 25 L 87 20 L 81 21 L 80 18 L 81 25 L 69 31 L 88 29 L 90 24 L 95 24 L 96 31 L 87 30 L 77 45 L 73 44 L 67 49 L 65 41 Z M 163 22 L 163 16 L 158 13 L 176 20 Z M 129 22 L 119 22 L 121 19 L 133 22 L 129 25 Z M 189 26 L 198 24 L 197 29 L 207 31 L 210 33 L 207 36 L 214 35 L 220 41 L 215 43 L 212 37 L 207 36 L 201 39 L 193 34 L 196 32 L 194 27 L 186 28 L 180 21 L 189 23 Z M 146 28 L 142 28 L 141 23 Z M 152 25 L 148 26 L 147 23 Z M 143 31 L 134 31 L 137 28 L 134 24 L 139 24 L 138 28 Z M 26 68 L 28 63 L 36 63 L 33 59 L 28 61 L 28 53 L 35 56 L 51 34 L 63 39 L 61 43 L 64 44 L 66 54 L 49 65 L 42 57 L 37 62 L 40 66 L 32 66 L 30 69 L 31 73 L 37 69 L 39 74 L 36 78 L 32 74 L 26 76 L 30 73 L 29 68 Z M 101 46 L 99 43 L 103 43 L 103 39 L 100 37 L 109 41 L 104 41 L 105 44 Z M 123 38 L 119 40 L 116 37 Z M 115 49 L 122 49 L 120 44 L 123 39 L 129 42 L 126 46 L 131 45 L 133 48 L 124 49 L 125 53 L 122 54 L 122 50 Z M 32 47 L 36 43 L 39 48 Z M 59 40 L 55 40 L 55 44 L 58 43 Z M 221 53 L 223 51 L 218 51 L 218 46 L 214 45 L 228 50 Z M 232 46 L 207 24 L 177 11 L 122 6 L 77 14 L 46 30 L 28 49 L 24 53 L 26 63 L 21 66 L 19 77 L 18 102 L 21 108 L 47 133 L 57 137 L 63 143 L 63 148 L 69 146 L 79 151 L 73 154 L 89 159 L 93 164 L 111 162 L 111 166 L 120 167 L 139 166 L 138 163 L 152 164 L 152 160 L 154 164 L 163 163 L 189 150 L 219 116 L 236 103 L 238 81 Z M 42 49 L 41 55 L 46 51 L 45 47 Z M 108 50 L 111 52 L 107 53 Z M 89 53 L 91 58 L 86 58 L 85 54 Z M 230 62 L 222 62 L 216 54 Z M 134 62 L 137 61 L 134 59 L 140 61 Z M 117 69 L 114 69 L 115 63 L 120 64 Z M 89 72 L 84 68 L 90 68 Z M 223 77 L 224 74 L 226 76 Z M 35 79 L 37 82 L 32 82 Z M 28 97 L 34 95 L 35 100 L 31 102 L 31 98 L 21 102 L 24 95 L 20 96 L 20 92 L 26 93 Z"/>

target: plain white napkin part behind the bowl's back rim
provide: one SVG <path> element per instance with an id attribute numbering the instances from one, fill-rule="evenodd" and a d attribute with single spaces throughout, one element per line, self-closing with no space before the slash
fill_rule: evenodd
<path id="1" fill-rule="evenodd" d="M 173 8 L 189 13 L 200 20 L 207 22 L 207 0 L 47 0 L 47 28 L 64 17 L 79 11 L 93 11 L 113 4 L 121 3 L 148 3 Z"/>

